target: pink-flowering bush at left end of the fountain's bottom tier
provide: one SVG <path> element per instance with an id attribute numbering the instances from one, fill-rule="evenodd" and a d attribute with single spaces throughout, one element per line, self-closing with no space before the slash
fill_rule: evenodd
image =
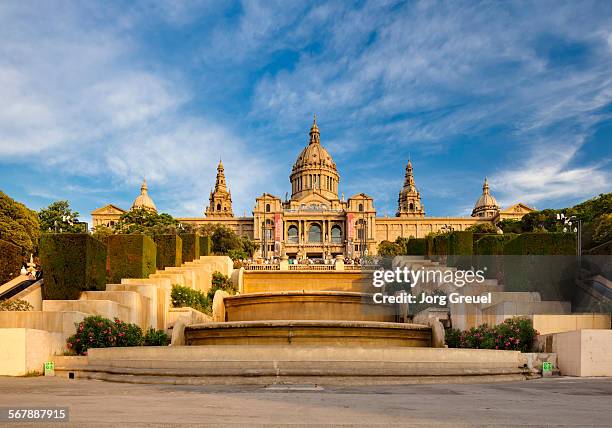
<path id="1" fill-rule="evenodd" d="M 111 348 L 116 346 L 141 346 L 142 330 L 136 324 L 114 321 L 99 315 L 89 316 L 76 323 L 76 333 L 66 342 L 69 351 L 87 355 L 89 348 Z"/>

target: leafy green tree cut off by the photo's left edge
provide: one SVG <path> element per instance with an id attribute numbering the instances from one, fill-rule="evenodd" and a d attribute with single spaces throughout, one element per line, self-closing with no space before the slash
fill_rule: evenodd
<path id="1" fill-rule="evenodd" d="M 0 191 L 0 239 L 35 252 L 39 237 L 36 212 Z"/>

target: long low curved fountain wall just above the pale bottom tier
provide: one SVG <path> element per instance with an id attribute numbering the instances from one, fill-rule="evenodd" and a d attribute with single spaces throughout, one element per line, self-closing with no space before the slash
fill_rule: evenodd
<path id="1" fill-rule="evenodd" d="M 431 328 L 372 321 L 234 321 L 185 327 L 187 345 L 429 347 Z"/>

